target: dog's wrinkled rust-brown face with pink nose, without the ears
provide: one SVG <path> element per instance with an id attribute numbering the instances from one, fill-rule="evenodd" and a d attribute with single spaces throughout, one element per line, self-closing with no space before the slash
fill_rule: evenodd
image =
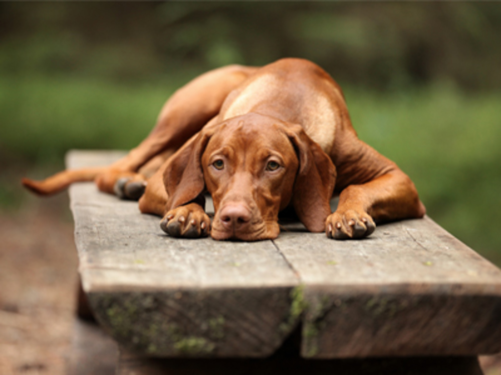
<path id="1" fill-rule="evenodd" d="M 299 166 L 280 125 L 224 122 L 208 141 L 201 165 L 214 201 L 213 238 L 278 236 L 278 213 L 291 201 Z"/>

